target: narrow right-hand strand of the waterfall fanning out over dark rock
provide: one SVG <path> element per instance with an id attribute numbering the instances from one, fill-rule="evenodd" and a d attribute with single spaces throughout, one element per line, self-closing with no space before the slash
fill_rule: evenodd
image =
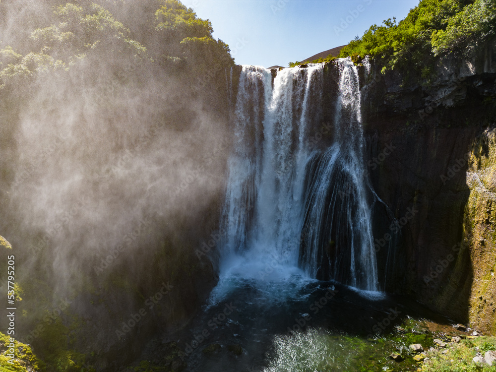
<path id="1" fill-rule="evenodd" d="M 338 60 L 334 143 L 309 166 L 300 263 L 312 277 L 378 290 L 357 67 Z M 311 228 L 307 228 L 311 226 Z"/>

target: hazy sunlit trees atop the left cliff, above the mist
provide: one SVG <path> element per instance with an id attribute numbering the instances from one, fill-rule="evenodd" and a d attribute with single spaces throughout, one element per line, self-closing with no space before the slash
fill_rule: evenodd
<path id="1" fill-rule="evenodd" d="M 173 68 L 169 73 L 186 65 L 195 72 L 192 78 L 215 63 L 225 67 L 234 64 L 229 47 L 212 38 L 210 21 L 199 19 L 177 0 L 140 1 L 139 9 L 133 9 L 136 23 L 142 26 L 139 29 L 113 15 L 109 9 L 118 10 L 124 4 L 112 0 L 48 3 L 53 4 L 52 24 L 40 25 L 18 45 L 2 46 L 0 88 L 43 72 L 68 71 L 81 60 L 101 59 L 103 55 L 124 59 L 131 66 L 147 62 Z M 0 8 L 3 6 L 7 5 L 0 3 Z M 5 12 L 0 9 L 0 14 Z"/>

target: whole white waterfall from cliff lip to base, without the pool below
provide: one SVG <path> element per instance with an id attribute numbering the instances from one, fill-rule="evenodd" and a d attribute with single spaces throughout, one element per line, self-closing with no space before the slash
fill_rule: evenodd
<path id="1" fill-rule="evenodd" d="M 350 60 L 338 66 L 334 143 L 323 153 L 309 141 L 322 120 L 323 64 L 275 76 L 243 66 L 221 220 L 221 276 L 306 275 L 377 290 L 358 70 Z"/>

